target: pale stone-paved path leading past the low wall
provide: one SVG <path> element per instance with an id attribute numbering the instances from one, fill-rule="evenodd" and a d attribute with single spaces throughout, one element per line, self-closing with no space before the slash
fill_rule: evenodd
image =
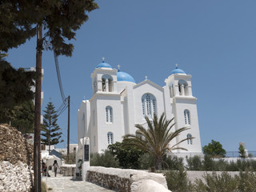
<path id="1" fill-rule="evenodd" d="M 49 192 L 102 192 L 102 191 L 112 191 L 103 188 L 102 186 L 97 186 L 91 182 L 75 181 L 72 177 L 63 177 L 62 174 L 58 174 L 57 177 L 46 177 L 42 178 L 43 182 L 46 182 L 47 189 L 52 188 Z M 48 191 L 48 190 L 47 190 Z"/>

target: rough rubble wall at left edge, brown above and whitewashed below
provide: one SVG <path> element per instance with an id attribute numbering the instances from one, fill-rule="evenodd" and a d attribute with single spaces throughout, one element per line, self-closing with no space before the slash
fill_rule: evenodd
<path id="1" fill-rule="evenodd" d="M 30 191 L 33 146 L 7 124 L 0 124 L 0 143 L 0 191 Z"/>

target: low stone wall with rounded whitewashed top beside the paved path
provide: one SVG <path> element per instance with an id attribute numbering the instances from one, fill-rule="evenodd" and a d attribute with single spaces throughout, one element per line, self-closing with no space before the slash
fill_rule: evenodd
<path id="1" fill-rule="evenodd" d="M 120 192 L 169 191 L 166 178 L 162 174 L 147 173 L 142 170 L 122 170 L 102 166 L 90 166 L 87 170 L 86 181 L 94 182 L 110 190 Z M 149 186 L 149 183 L 151 183 Z M 159 190 L 161 189 L 161 190 Z"/>

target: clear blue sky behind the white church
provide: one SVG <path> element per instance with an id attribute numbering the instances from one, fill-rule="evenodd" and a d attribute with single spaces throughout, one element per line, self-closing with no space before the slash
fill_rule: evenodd
<path id="1" fill-rule="evenodd" d="M 147 76 L 159 86 L 178 63 L 192 74 L 202 146 L 214 139 L 228 151 L 238 150 L 239 142 L 256 150 L 255 0 L 96 2 L 99 9 L 89 14 L 73 41 L 73 56 L 58 58 L 64 93 L 71 98 L 71 143 L 77 142 L 81 101 L 92 96 L 90 74 L 105 57 L 137 83 Z M 6 60 L 15 68 L 35 66 L 35 44 L 32 38 L 10 50 Z M 50 98 L 58 108 L 62 98 L 52 52 L 43 52 L 42 66 L 42 110 Z M 67 110 L 58 124 L 66 135 Z M 58 147 L 66 146 L 64 139 Z"/>

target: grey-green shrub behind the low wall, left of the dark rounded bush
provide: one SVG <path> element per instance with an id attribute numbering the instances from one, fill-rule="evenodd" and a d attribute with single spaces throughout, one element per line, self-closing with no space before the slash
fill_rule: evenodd
<path id="1" fill-rule="evenodd" d="M 90 154 L 90 166 L 119 167 L 118 160 L 114 158 L 110 150 L 105 150 L 102 154 Z"/>

